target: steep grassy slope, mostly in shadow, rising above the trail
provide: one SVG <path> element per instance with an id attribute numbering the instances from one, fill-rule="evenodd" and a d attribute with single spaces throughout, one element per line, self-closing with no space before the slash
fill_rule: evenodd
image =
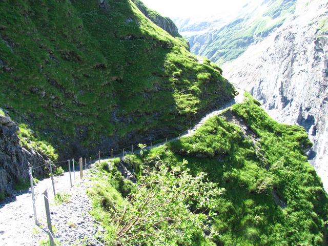
<path id="1" fill-rule="evenodd" d="M 130 0 L 5 0 L 0 17 L 0 106 L 61 156 L 165 137 L 234 94 Z"/>

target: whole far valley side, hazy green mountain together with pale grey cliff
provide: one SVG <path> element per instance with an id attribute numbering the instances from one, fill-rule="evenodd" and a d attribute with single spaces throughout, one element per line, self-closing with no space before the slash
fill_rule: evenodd
<path id="1" fill-rule="evenodd" d="M 232 19 L 192 24 L 190 33 L 187 20 L 177 20 L 193 52 L 222 64 L 224 76 L 249 91 L 274 119 L 306 129 L 314 145 L 309 161 L 326 190 L 327 4 L 251 1 Z M 224 45 L 226 39 L 233 49 Z"/>

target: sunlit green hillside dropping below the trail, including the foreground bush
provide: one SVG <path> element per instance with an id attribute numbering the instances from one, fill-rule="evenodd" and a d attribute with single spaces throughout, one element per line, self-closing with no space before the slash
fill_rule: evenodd
<path id="1" fill-rule="evenodd" d="M 328 197 L 303 152 L 311 142 L 258 105 L 247 95 L 192 137 L 126 156 L 136 187 L 119 159 L 102 163 L 89 194 L 107 245 L 326 245 Z"/>

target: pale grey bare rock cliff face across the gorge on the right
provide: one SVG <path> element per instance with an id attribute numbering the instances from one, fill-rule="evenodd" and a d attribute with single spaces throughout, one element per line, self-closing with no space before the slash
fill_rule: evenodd
<path id="1" fill-rule="evenodd" d="M 298 1 L 295 15 L 223 66 L 270 115 L 308 131 L 309 160 L 328 190 L 328 2 Z"/>

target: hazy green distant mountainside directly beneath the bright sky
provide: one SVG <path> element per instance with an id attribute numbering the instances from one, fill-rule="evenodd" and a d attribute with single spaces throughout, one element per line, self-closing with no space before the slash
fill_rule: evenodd
<path id="1" fill-rule="evenodd" d="M 281 26 L 295 11 L 296 0 L 251 1 L 235 15 L 174 19 L 191 51 L 223 64 L 241 55 Z"/>

